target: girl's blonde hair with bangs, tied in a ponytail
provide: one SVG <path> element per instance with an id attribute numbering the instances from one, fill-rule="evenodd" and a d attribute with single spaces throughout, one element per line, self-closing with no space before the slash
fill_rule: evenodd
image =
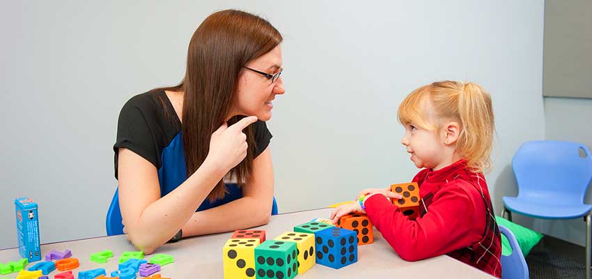
<path id="1" fill-rule="evenodd" d="M 492 102 L 489 93 L 478 84 L 446 80 L 421 86 L 403 100 L 397 116 L 403 125 L 413 123 L 436 130 L 437 134 L 447 121 L 457 121 L 460 134 L 456 151 L 473 172 L 491 169 L 495 130 Z"/>

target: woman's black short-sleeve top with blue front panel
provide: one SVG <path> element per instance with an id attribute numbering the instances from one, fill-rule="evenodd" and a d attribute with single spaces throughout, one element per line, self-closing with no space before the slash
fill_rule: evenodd
<path id="1" fill-rule="evenodd" d="M 255 153 L 260 155 L 270 144 L 272 134 L 264 121 L 254 125 Z M 158 170 L 160 195 L 171 193 L 187 179 L 185 152 L 181 137 L 181 122 L 164 91 L 148 91 L 132 97 L 119 114 L 115 151 L 115 178 L 117 179 L 118 149 L 130 149 L 155 165 Z M 223 199 L 209 199 L 197 211 L 210 209 L 242 197 L 242 190 L 226 184 L 228 193 Z"/>

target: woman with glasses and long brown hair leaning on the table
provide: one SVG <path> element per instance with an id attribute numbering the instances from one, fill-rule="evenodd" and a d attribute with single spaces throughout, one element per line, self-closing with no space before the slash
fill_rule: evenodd
<path id="1" fill-rule="evenodd" d="M 281 41 L 256 15 L 213 13 L 192 36 L 182 82 L 123 106 L 115 170 L 123 232 L 136 248 L 150 254 L 180 236 L 269 222 L 272 135 L 264 121 L 284 93 Z"/>

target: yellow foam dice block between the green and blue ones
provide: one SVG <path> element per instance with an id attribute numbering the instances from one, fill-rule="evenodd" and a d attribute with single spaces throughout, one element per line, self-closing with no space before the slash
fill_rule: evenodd
<path id="1" fill-rule="evenodd" d="M 316 264 L 314 234 L 306 234 L 304 232 L 284 232 L 274 240 L 293 241 L 296 243 L 298 274 L 305 273 Z"/>

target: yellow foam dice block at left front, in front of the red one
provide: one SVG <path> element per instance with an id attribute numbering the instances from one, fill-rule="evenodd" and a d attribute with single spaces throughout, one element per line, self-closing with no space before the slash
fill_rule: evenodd
<path id="1" fill-rule="evenodd" d="M 228 239 L 222 262 L 224 278 L 255 278 L 255 248 L 260 239 Z"/>

